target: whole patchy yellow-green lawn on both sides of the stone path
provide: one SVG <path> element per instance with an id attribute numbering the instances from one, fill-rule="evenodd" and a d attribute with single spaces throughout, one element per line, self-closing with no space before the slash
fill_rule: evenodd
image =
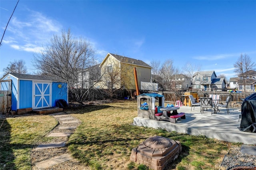
<path id="1" fill-rule="evenodd" d="M 82 121 L 67 142 L 72 155 L 92 170 L 143 170 L 146 166 L 130 161 L 131 150 L 146 138 L 158 135 L 179 140 L 182 144 L 182 153 L 168 169 L 217 170 L 229 148 L 240 145 L 133 126 L 136 107 L 136 101 L 117 101 L 66 109 Z M 2 122 L 1 119 L 0 125 Z M 50 140 L 44 136 L 56 125 L 56 120 L 48 115 L 6 119 L 0 129 L 0 170 L 30 169 L 32 147 Z"/>

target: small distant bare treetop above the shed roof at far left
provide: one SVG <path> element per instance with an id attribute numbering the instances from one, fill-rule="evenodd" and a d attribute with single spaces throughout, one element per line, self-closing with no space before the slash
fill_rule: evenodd
<path id="1" fill-rule="evenodd" d="M 26 74 L 27 73 L 27 67 L 26 62 L 22 59 L 20 60 L 14 60 L 13 62 L 10 62 L 6 68 L 3 69 L 4 73 L 21 73 Z"/>

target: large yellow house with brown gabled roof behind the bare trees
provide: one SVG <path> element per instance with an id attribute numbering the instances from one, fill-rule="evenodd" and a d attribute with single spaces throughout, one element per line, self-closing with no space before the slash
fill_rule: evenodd
<path id="1" fill-rule="evenodd" d="M 138 86 L 141 81 L 150 82 L 151 68 L 142 60 L 108 53 L 100 63 L 101 81 L 96 84 L 102 89 L 136 89 L 134 67 L 137 72 Z"/>

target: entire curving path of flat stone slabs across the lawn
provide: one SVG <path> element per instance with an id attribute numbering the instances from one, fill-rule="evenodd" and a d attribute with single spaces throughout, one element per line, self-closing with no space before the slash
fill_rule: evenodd
<path id="1" fill-rule="evenodd" d="M 80 123 L 79 120 L 72 117 L 71 115 L 66 115 L 63 113 L 55 113 L 55 114 L 51 114 L 50 116 L 53 116 L 55 119 L 57 119 L 57 121 L 59 122 L 59 125 L 57 127 L 55 127 L 47 137 L 69 137 L 73 132 L 73 131 L 70 132 L 70 130 L 72 130 L 72 129 L 75 130 L 77 127 L 77 124 Z M 73 121 L 68 121 L 68 120 L 72 120 L 72 119 L 73 119 Z M 64 126 L 63 124 L 70 124 L 70 126 Z M 72 124 L 74 124 L 74 125 L 72 125 Z M 58 130 L 61 130 L 61 132 L 58 132 Z M 69 131 L 63 132 L 65 130 L 69 130 Z M 65 141 L 53 142 L 53 143 L 49 143 L 49 144 L 40 144 L 36 148 L 34 148 L 34 152 L 36 152 L 38 150 L 43 150 L 43 149 L 66 147 L 66 140 L 68 140 L 68 138 L 65 138 L 65 139 L 60 138 L 60 140 L 65 140 Z M 54 151 L 52 151 L 52 150 L 48 150 L 48 151 L 51 153 L 54 153 Z M 54 155 L 54 154 L 52 154 L 52 155 Z M 50 158 L 48 160 L 36 162 L 34 164 L 34 166 L 37 170 L 42 170 L 47 167 L 54 166 L 56 164 L 60 164 L 62 162 L 66 162 L 66 161 L 72 160 L 72 159 L 73 158 L 70 154 L 61 154 L 59 156 L 56 155 L 55 157 Z"/>

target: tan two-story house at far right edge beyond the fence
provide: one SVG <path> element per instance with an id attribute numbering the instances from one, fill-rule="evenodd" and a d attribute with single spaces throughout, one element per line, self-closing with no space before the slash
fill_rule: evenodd
<path id="1" fill-rule="evenodd" d="M 244 81 L 246 81 L 246 91 L 256 91 L 256 71 L 250 70 L 244 73 L 244 76 L 238 75 L 238 90 L 244 90 Z"/>

